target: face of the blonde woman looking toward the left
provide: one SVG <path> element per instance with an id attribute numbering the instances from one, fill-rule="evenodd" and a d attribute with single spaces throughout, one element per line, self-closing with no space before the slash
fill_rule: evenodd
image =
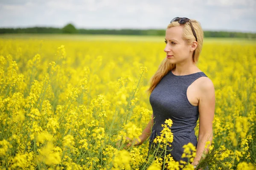
<path id="1" fill-rule="evenodd" d="M 183 27 L 175 26 L 166 29 L 166 47 L 164 52 L 166 52 L 166 57 L 172 64 L 177 64 L 183 62 L 187 59 L 192 59 L 191 45 L 187 44 L 186 41 L 182 39 Z"/>

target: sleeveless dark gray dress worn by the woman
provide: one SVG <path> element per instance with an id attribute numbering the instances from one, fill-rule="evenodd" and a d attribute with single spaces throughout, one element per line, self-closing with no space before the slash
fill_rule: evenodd
<path id="1" fill-rule="evenodd" d="M 176 76 L 169 71 L 152 91 L 149 101 L 154 115 L 154 125 L 149 137 L 148 156 L 154 151 L 156 144 L 153 139 L 163 130 L 162 124 L 166 119 L 172 119 L 173 142 L 167 146 L 166 155 L 171 153 L 175 161 L 188 161 L 181 158 L 183 145 L 191 142 L 197 147 L 195 136 L 196 122 L 199 117 L 198 106 L 192 105 L 186 95 L 187 88 L 199 77 L 207 77 L 204 72 L 189 75 Z M 161 153 L 164 156 L 164 153 Z"/>

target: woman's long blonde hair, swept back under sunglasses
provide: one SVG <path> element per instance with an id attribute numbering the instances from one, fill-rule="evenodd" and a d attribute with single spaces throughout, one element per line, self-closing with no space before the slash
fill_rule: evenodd
<path id="1" fill-rule="evenodd" d="M 199 55 L 202 51 L 203 47 L 203 39 L 204 39 L 204 31 L 201 27 L 201 24 L 197 20 L 191 20 L 191 23 L 194 27 L 195 34 L 197 37 L 197 48 L 193 52 L 192 59 L 193 62 L 196 63 L 198 62 Z M 170 23 L 167 28 L 175 27 L 175 26 L 183 26 L 183 35 L 182 39 L 185 40 L 188 44 L 192 44 L 192 42 L 195 41 L 195 36 L 193 35 L 190 23 L 187 22 L 185 24 L 180 24 L 177 21 Z M 150 86 L 146 90 L 149 94 L 152 93 L 154 88 L 157 86 L 157 84 L 160 82 L 160 80 L 172 69 L 176 68 L 176 64 L 170 64 L 169 61 L 165 58 L 163 61 L 160 63 L 157 72 L 154 74 L 153 77 L 150 79 Z"/>

